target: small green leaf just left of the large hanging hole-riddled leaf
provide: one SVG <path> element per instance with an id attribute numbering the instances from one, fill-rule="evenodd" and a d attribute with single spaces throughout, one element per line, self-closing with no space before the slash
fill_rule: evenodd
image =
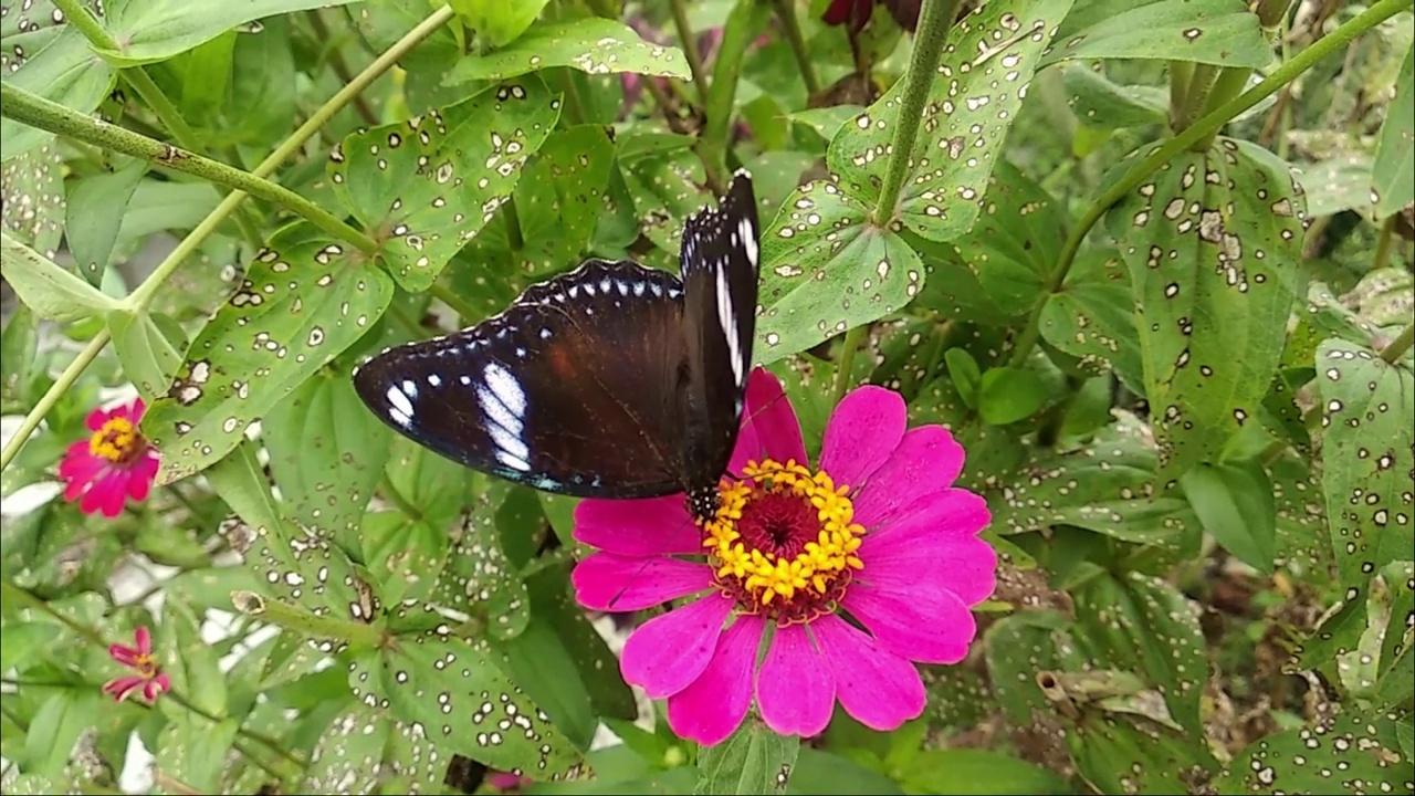
<path id="1" fill-rule="evenodd" d="M 1118 252 L 1078 255 L 1061 289 L 1041 307 L 1041 339 L 1081 358 L 1082 368 L 1105 363 L 1126 387 L 1145 385 L 1139 337 L 1131 312 L 1131 275 Z"/>

